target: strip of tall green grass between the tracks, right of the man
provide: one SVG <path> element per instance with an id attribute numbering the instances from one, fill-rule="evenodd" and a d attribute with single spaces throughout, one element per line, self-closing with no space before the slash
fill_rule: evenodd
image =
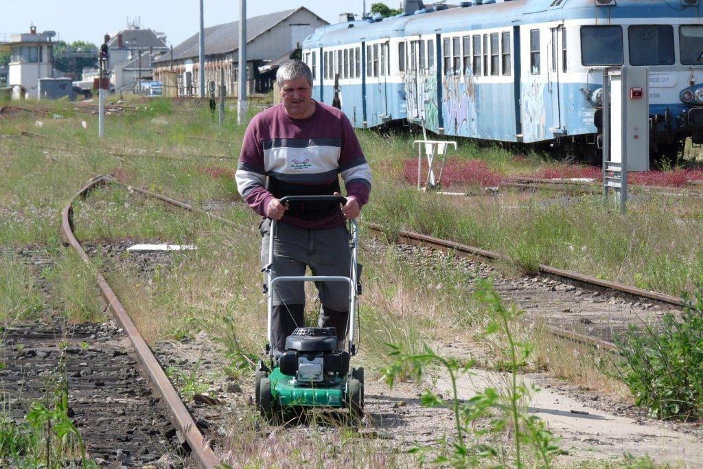
<path id="1" fill-rule="evenodd" d="M 505 207 L 491 198 L 453 205 L 389 185 L 375 191 L 366 216 L 391 231 L 411 229 L 504 252 L 524 273 L 549 264 L 678 295 L 703 275 L 701 226 L 673 222 L 668 205 L 646 208 L 646 214 L 608 214 L 600 197 L 546 206 Z"/>

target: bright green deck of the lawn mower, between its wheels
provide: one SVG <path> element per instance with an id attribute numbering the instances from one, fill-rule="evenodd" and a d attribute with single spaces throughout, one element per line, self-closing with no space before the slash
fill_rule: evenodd
<path id="1" fill-rule="evenodd" d="M 280 368 L 273 368 L 271 380 L 271 401 L 280 406 L 344 406 L 344 380 L 337 385 L 302 387 L 296 386 L 295 377 L 284 375 Z"/>

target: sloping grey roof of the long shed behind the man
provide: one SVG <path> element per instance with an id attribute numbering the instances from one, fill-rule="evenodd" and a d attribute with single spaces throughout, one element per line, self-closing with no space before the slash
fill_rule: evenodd
<path id="1" fill-rule="evenodd" d="M 291 10 L 277 11 L 276 13 L 268 13 L 266 15 L 252 16 L 247 18 L 247 42 L 259 36 L 263 32 L 270 30 L 273 26 L 288 18 L 298 10 L 305 8 L 293 8 Z M 212 56 L 215 54 L 228 53 L 239 49 L 239 21 L 231 23 L 223 23 L 205 28 L 205 55 Z M 198 49 L 198 33 L 181 42 L 178 46 L 174 46 L 174 60 L 183 60 L 186 58 L 194 58 L 200 55 Z M 170 55 L 165 54 L 156 60 L 155 63 L 170 60 Z"/>

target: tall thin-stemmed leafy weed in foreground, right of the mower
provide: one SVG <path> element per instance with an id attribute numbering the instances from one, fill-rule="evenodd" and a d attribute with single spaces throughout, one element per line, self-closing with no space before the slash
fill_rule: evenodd
<path id="1" fill-rule="evenodd" d="M 425 345 L 424 352 L 408 354 L 398 346 L 391 345 L 391 356 L 395 361 L 385 368 L 382 373 L 386 382 L 392 386 L 401 370 L 408 364 L 414 375 L 420 378 L 427 366 L 439 365 L 447 373 L 451 382 L 451 397 L 444 399 L 430 390 L 423 392 L 421 401 L 427 407 L 446 407 L 453 411 L 456 435 L 454 440 L 444 440 L 446 448 L 434 457 L 432 463 L 449 463 L 456 467 L 485 465 L 487 461 L 498 463 L 498 467 L 524 468 L 530 465 L 548 468 L 554 454 L 558 451 L 556 439 L 546 428 L 546 425 L 536 416 L 527 416 L 521 406 L 521 401 L 529 396 L 530 389 L 517 381 L 517 370 L 524 366 L 529 358 L 532 347 L 527 342 L 517 342 L 510 329 L 511 323 L 522 311 L 515 305 L 505 307 L 500 295 L 496 293 L 489 281 L 479 281 L 475 293 L 476 300 L 484 304 L 488 311 L 489 322 L 484 334 L 502 335 L 507 340 L 510 349 L 510 382 L 507 390 L 488 387 L 467 400 L 462 400 L 458 393 L 458 380 L 462 375 L 471 373 L 474 361 L 462 362 L 453 357 L 444 357 Z M 498 416 L 491 409 L 500 411 Z M 489 424 L 477 425 L 479 419 L 488 419 Z M 504 451 L 492 443 L 496 439 L 491 436 L 510 430 L 514 435 L 514 449 Z M 415 446 L 411 453 L 418 455 L 420 464 L 425 463 L 427 454 L 433 448 L 430 446 Z"/>

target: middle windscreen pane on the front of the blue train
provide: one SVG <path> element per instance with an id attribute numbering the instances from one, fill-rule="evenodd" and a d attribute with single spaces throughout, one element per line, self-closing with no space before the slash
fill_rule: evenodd
<path id="1" fill-rule="evenodd" d="M 673 65 L 671 25 L 632 25 L 627 38 L 631 65 Z"/>

